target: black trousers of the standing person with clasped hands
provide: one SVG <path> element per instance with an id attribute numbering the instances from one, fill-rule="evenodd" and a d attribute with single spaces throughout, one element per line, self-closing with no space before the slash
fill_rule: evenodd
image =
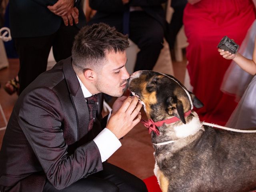
<path id="1" fill-rule="evenodd" d="M 38 75 L 46 71 L 51 47 L 56 62 L 71 56 L 74 36 L 79 28 L 62 24 L 57 32 L 48 36 L 14 38 L 16 51 L 20 59 L 18 73 L 20 93 Z"/>

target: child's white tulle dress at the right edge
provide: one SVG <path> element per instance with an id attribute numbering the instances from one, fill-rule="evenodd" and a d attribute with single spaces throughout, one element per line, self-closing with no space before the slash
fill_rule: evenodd
<path id="1" fill-rule="evenodd" d="M 256 20 L 248 30 L 239 50 L 240 54 L 248 59 L 252 59 L 255 36 Z M 256 76 L 248 74 L 232 61 L 224 76 L 222 91 L 236 94 L 237 99 L 242 96 L 226 126 L 236 129 L 256 127 Z"/>

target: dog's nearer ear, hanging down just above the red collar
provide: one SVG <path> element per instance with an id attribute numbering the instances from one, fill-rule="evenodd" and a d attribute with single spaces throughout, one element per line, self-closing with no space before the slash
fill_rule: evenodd
<path id="1" fill-rule="evenodd" d="M 183 104 L 180 100 L 177 100 L 177 98 L 169 97 L 167 99 L 167 111 L 169 115 L 178 117 L 182 123 L 186 124 Z"/>

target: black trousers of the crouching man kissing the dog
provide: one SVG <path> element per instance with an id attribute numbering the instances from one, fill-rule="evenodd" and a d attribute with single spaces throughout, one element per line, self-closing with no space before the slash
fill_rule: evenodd
<path id="1" fill-rule="evenodd" d="M 136 176 L 114 166 L 103 163 L 103 170 L 57 190 L 46 182 L 43 192 L 147 192 L 146 185 Z"/>

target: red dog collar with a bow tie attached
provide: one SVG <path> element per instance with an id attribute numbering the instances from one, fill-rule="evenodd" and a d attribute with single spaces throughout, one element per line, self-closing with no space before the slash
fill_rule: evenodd
<path id="1" fill-rule="evenodd" d="M 191 110 L 189 110 L 188 112 L 184 113 L 184 116 L 187 117 L 189 116 L 191 113 Z M 176 116 L 173 116 L 169 119 L 166 119 L 166 120 L 162 120 L 162 121 L 158 121 L 158 122 L 154 122 L 152 119 L 149 119 L 148 121 L 144 120 L 144 119 L 141 119 L 140 122 L 142 124 L 144 124 L 144 126 L 146 128 L 148 128 L 148 133 L 151 133 L 152 131 L 156 133 L 156 135 L 160 135 L 160 132 L 158 130 L 157 127 L 160 127 L 162 126 L 164 123 L 166 124 L 171 124 L 171 123 L 174 123 L 174 122 L 177 122 L 177 121 L 180 121 L 180 119 Z"/>

